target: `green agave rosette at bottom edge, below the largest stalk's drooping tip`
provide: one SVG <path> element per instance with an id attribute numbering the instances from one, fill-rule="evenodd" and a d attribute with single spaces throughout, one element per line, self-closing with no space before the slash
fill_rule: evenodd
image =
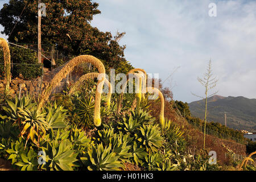
<path id="1" fill-rule="evenodd" d="M 111 146 L 104 147 L 100 143 L 88 148 L 81 160 L 89 171 L 117 171 L 123 167 L 118 158 L 118 154 L 111 152 Z"/>

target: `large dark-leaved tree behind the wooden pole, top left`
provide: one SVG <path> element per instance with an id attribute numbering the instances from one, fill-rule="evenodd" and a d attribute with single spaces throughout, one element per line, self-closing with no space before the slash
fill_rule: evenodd
<path id="1" fill-rule="evenodd" d="M 118 68 L 124 58 L 126 46 L 118 40 L 125 34 L 101 32 L 92 27 L 93 16 L 100 14 L 98 3 L 90 0 L 48 0 L 46 16 L 42 16 L 42 44 L 53 44 L 64 56 L 89 54 L 104 61 L 107 68 Z M 9 42 L 37 43 L 38 1 L 10 0 L 0 11 L 2 34 Z"/>

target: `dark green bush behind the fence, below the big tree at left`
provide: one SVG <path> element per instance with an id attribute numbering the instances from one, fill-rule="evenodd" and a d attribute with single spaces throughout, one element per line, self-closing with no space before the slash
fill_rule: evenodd
<path id="1" fill-rule="evenodd" d="M 38 64 L 38 59 L 35 51 L 28 49 L 10 46 L 11 54 L 11 76 L 22 77 L 26 80 L 36 78 L 42 75 L 42 65 Z M 3 52 L 0 50 L 0 76 L 3 77 Z M 18 64 L 16 64 L 18 63 Z M 22 65 L 19 65 L 22 64 Z"/>

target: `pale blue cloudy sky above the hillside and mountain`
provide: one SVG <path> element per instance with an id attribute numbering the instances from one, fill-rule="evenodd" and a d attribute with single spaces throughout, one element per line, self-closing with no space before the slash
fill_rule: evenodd
<path id="1" fill-rule="evenodd" d="M 0 8 L 3 2 L 0 0 Z M 256 1 L 94 0 L 101 14 L 91 24 L 113 35 L 135 68 L 159 73 L 174 100 L 200 100 L 209 60 L 221 96 L 256 98 Z M 209 4 L 217 14 L 209 16 Z M 2 27 L 0 27 L 2 30 Z M 2 36 L 2 35 L 0 35 Z M 192 92 L 192 93 L 191 93 Z M 209 93 L 209 94 L 210 94 Z"/>

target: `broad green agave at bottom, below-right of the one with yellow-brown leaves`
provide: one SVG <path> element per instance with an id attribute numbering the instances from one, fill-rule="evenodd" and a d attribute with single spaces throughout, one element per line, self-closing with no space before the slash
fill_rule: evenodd
<path id="1" fill-rule="evenodd" d="M 46 164 L 42 164 L 40 168 L 51 171 L 73 171 L 73 167 L 78 167 L 77 153 L 72 150 L 72 143 L 64 139 L 58 142 L 57 139 L 47 143 Z"/>

